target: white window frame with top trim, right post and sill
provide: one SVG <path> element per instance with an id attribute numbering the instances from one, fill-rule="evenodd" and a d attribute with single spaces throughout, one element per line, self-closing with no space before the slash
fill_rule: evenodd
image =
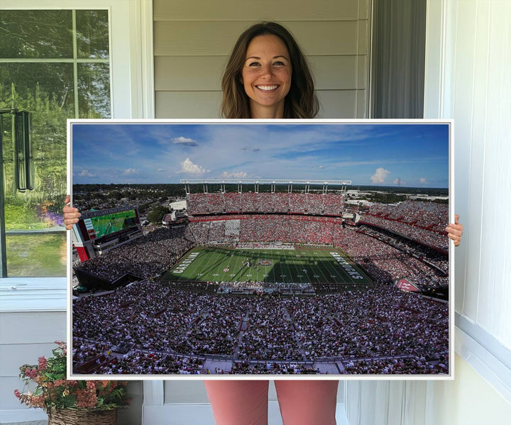
<path id="1" fill-rule="evenodd" d="M 151 0 L 0 0 L 0 9 L 107 9 L 112 118 L 154 118 Z M 68 171 L 68 190 L 70 172 Z M 67 244 L 70 244 L 67 235 Z M 69 263 L 69 262 L 68 262 Z M 67 275 L 70 275 L 68 267 Z M 0 278 L 0 311 L 65 311 L 66 277 Z"/>

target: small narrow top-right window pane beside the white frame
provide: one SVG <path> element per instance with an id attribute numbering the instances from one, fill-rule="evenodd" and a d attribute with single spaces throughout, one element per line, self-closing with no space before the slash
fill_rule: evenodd
<path id="1" fill-rule="evenodd" d="M 77 11 L 77 57 L 109 57 L 108 11 Z"/>

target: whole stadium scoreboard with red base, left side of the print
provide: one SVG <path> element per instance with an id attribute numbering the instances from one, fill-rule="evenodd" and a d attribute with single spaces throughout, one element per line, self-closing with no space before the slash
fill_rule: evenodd
<path id="1" fill-rule="evenodd" d="M 138 210 L 134 206 L 123 206 L 85 211 L 73 226 L 72 235 L 80 260 L 86 261 L 141 233 Z"/>

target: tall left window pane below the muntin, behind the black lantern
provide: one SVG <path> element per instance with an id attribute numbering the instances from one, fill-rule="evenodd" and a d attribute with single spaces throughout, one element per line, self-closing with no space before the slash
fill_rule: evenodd
<path id="1" fill-rule="evenodd" d="M 14 180 L 11 114 L 4 114 L 3 171 L 7 272 L 13 276 L 65 275 L 66 119 L 74 116 L 72 64 L 6 63 L 0 71 L 0 108 L 14 101 L 32 113 L 34 190 L 18 192 Z M 14 92 L 11 87 L 14 87 Z M 60 234 L 9 235 L 9 231 L 62 228 Z M 63 251 L 62 251 L 63 250 Z"/>

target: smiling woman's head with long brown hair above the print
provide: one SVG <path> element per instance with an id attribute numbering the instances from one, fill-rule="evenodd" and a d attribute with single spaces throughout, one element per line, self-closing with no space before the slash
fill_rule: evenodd
<path id="1" fill-rule="evenodd" d="M 221 87 L 225 118 L 314 118 L 319 111 L 307 60 L 275 22 L 256 23 L 240 35 Z"/>

